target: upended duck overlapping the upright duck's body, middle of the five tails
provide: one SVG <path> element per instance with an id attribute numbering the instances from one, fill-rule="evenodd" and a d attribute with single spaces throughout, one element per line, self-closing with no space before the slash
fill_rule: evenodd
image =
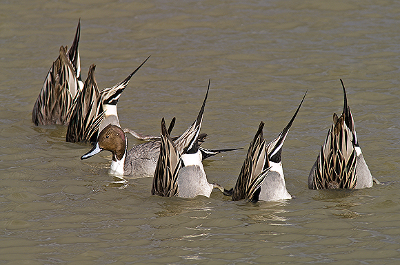
<path id="1" fill-rule="evenodd" d="M 208 89 L 210 83 L 208 84 Z M 206 98 L 199 116 L 190 127 L 174 141 L 161 120 L 161 145 L 157 166 L 152 182 L 152 195 L 163 197 L 194 198 L 198 195 L 210 197 L 213 189 L 222 193 L 228 191 L 218 183 L 210 184 L 204 171 L 199 150 L 199 131 L 203 120 Z"/>

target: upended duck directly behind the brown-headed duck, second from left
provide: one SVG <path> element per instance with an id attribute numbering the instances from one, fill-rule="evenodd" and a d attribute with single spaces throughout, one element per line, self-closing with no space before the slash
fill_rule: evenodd
<path id="1" fill-rule="evenodd" d="M 66 134 L 67 142 L 95 142 L 99 131 L 107 125 L 120 126 L 117 114 L 119 96 L 128 85 L 130 78 L 149 58 L 150 56 L 123 81 L 100 92 L 94 77 L 96 65 L 90 65 L 88 78 L 86 78 L 83 89 L 77 94 L 70 108 L 70 123 L 68 123 Z"/>

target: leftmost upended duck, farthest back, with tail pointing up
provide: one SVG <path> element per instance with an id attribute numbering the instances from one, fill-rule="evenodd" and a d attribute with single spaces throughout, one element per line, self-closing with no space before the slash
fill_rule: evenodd
<path id="1" fill-rule="evenodd" d="M 41 92 L 34 103 L 32 122 L 34 125 L 68 124 L 68 112 L 74 97 L 83 88 L 79 59 L 79 19 L 74 41 L 70 49 L 60 47 L 59 57 L 54 61 L 46 76 Z M 67 51 L 68 50 L 68 51 Z"/>

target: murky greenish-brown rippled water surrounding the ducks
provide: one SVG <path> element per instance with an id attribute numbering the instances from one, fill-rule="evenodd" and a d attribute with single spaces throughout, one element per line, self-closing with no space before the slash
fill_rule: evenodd
<path id="1" fill-rule="evenodd" d="M 400 6 L 397 1 L 2 1 L 0 264 L 398 264 Z M 119 101 L 123 127 L 159 134 L 197 116 L 210 182 L 232 187 L 259 122 L 272 140 L 308 89 L 283 148 L 296 199 L 159 198 L 152 180 L 119 189 L 109 153 L 79 156 L 66 127 L 31 112 L 60 45 L 81 18 L 82 76 L 100 88 L 147 56 Z M 359 142 L 385 185 L 310 191 L 307 177 L 348 89 Z M 130 147 L 139 141 L 128 136 Z"/>

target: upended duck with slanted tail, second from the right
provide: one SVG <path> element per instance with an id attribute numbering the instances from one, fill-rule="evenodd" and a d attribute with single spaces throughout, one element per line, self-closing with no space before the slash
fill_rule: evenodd
<path id="1" fill-rule="evenodd" d="M 268 145 L 266 145 L 266 140 L 263 138 L 264 123 L 260 123 L 257 133 L 252 142 L 250 142 L 236 185 L 230 190 L 232 200 L 257 202 L 258 200 L 279 201 L 292 198 L 286 189 L 281 153 L 283 142 L 288 135 L 294 118 L 299 112 L 301 104 L 303 104 L 306 94 L 304 94 L 288 125 Z"/>

